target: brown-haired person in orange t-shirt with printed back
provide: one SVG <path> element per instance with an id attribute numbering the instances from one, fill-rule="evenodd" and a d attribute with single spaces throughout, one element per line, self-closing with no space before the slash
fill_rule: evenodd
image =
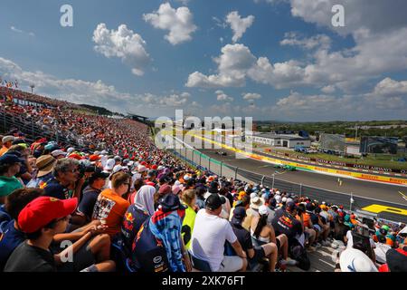
<path id="1" fill-rule="evenodd" d="M 111 178 L 112 189 L 105 189 L 100 194 L 93 209 L 92 219 L 98 219 L 107 226 L 106 233 L 115 236 L 121 227 L 123 217 L 130 206 L 123 198 L 130 189 L 130 176 L 119 171 Z"/>

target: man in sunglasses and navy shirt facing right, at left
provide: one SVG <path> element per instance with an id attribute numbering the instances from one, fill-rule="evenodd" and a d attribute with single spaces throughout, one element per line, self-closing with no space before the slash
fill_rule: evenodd
<path id="1" fill-rule="evenodd" d="M 84 182 L 77 182 L 80 177 L 79 161 L 73 159 L 57 160 L 52 169 L 52 179 L 43 184 L 47 197 L 68 199 L 79 198 Z"/>

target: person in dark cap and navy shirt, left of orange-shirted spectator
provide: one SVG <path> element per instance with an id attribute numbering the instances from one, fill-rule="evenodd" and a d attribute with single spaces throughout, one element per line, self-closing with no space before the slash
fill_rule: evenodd
<path id="1" fill-rule="evenodd" d="M 93 208 L 107 178 L 109 178 L 108 173 L 101 171 L 101 169 L 95 169 L 88 179 L 89 185 L 83 189 L 78 207 L 78 214 L 83 218 L 80 224 L 85 225 L 91 221 Z"/>

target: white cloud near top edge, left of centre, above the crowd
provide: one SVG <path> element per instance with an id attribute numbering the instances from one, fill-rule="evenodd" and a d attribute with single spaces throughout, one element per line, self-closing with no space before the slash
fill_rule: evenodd
<path id="1" fill-rule="evenodd" d="M 169 3 L 165 3 L 154 13 L 143 14 L 143 18 L 155 28 L 168 30 L 169 34 L 165 38 L 173 45 L 192 40 L 191 34 L 197 29 L 193 14 L 185 6 L 175 10 Z"/>

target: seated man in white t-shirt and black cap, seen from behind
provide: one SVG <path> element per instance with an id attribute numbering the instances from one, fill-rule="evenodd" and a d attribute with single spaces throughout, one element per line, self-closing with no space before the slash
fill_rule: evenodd
<path id="1" fill-rule="evenodd" d="M 219 218 L 226 199 L 212 194 L 205 200 L 205 208 L 195 218 L 191 239 L 191 253 L 206 261 L 213 272 L 244 272 L 247 267 L 246 253 L 233 232 L 228 220 Z M 238 256 L 224 256 L 223 248 L 228 241 Z"/>

